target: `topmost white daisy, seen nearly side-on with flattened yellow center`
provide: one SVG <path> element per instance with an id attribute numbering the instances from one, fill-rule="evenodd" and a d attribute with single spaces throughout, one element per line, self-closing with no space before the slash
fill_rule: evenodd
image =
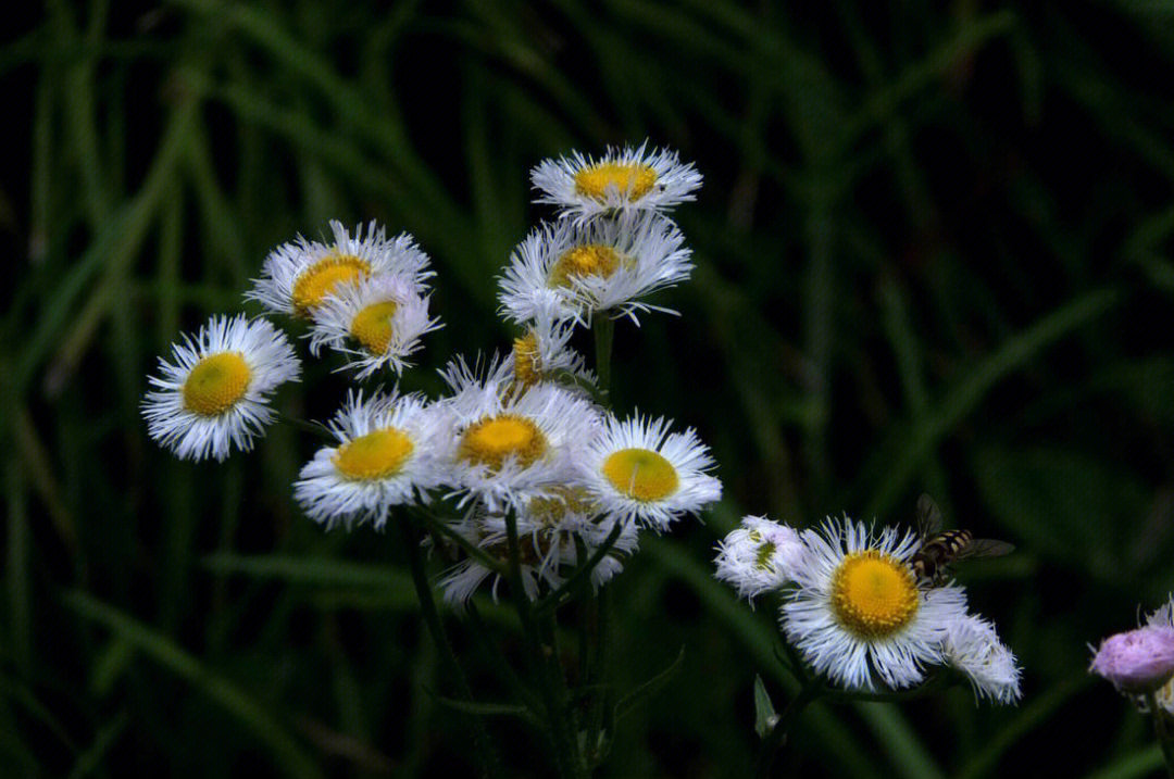
<path id="1" fill-rule="evenodd" d="M 529 171 L 541 191 L 535 203 L 551 203 L 562 216 L 580 221 L 612 211 L 663 211 L 694 199 L 701 174 L 682 163 L 675 151 L 608 147 L 600 158 L 579 151 L 571 157 L 544 160 Z"/>

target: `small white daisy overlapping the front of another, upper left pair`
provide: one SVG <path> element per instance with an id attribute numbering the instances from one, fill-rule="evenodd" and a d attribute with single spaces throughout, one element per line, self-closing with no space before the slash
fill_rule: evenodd
<path id="1" fill-rule="evenodd" d="M 404 276 L 357 279 L 335 287 L 313 311 L 310 352 L 317 357 L 329 346 L 350 357 L 345 367 L 365 379 L 384 366 L 397 375 L 411 367 L 420 337 L 439 328 L 429 319 L 429 298 Z M 352 345 L 353 344 L 353 345 Z"/>

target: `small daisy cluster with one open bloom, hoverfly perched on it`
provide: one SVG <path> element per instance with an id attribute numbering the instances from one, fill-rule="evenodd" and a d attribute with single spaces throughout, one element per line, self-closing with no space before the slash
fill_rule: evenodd
<path id="1" fill-rule="evenodd" d="M 717 546 L 716 577 L 782 597 L 780 624 L 805 665 L 849 691 L 903 690 L 930 666 L 960 671 L 977 698 L 1018 700 L 1019 668 L 953 583 L 918 573 L 913 531 L 848 517 L 796 530 L 748 516 Z"/>

